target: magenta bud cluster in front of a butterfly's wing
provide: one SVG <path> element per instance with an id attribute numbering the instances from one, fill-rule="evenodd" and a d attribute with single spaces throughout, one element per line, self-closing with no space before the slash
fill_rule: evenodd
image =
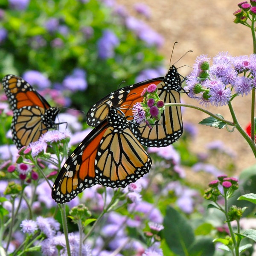
<path id="1" fill-rule="evenodd" d="M 144 88 L 141 96 L 143 96 L 143 101 L 137 102 L 132 109 L 134 120 L 138 124 L 145 122 L 151 128 L 151 125 L 160 120 L 165 105 L 157 94 L 156 84 L 150 84 Z"/>

